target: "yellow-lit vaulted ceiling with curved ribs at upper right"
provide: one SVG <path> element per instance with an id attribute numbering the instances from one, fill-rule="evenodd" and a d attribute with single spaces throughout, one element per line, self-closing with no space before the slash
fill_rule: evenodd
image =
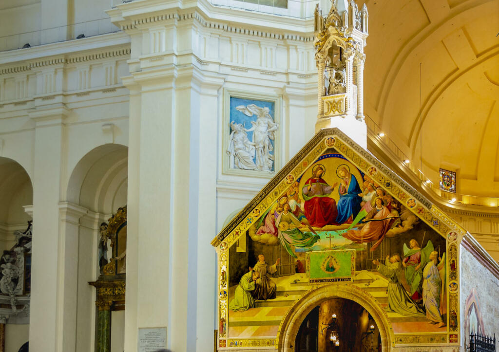
<path id="1" fill-rule="evenodd" d="M 434 183 L 498 197 L 499 0 L 365 2 L 366 114 Z"/>

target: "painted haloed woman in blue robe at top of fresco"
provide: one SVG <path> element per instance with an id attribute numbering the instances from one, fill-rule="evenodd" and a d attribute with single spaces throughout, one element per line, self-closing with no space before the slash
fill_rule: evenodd
<path id="1" fill-rule="evenodd" d="M 336 170 L 336 175 L 341 178 L 338 187 L 340 198 L 337 203 L 338 215 L 336 216 L 336 222 L 339 224 L 352 222 L 360 211 L 362 197 L 359 194 L 362 191 L 357 179 L 350 173 L 346 165 L 340 165 Z"/>

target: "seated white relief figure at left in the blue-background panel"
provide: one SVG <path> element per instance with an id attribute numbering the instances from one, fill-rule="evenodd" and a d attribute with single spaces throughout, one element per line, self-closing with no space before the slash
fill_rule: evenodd
<path id="1" fill-rule="evenodd" d="M 229 166 L 231 169 L 257 170 L 253 161 L 255 148 L 248 139 L 242 124 L 231 122 L 231 136 L 229 137 Z"/>

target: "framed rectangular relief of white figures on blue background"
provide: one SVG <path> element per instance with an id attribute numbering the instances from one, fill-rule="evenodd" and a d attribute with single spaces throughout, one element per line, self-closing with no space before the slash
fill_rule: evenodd
<path id="1" fill-rule="evenodd" d="M 224 90 L 222 173 L 271 178 L 282 167 L 282 98 Z"/>

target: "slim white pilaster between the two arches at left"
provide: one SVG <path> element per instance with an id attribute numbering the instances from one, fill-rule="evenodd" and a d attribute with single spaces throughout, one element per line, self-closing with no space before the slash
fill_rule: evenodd
<path id="1" fill-rule="evenodd" d="M 33 352 L 63 351 L 64 277 L 60 276 L 60 267 L 64 265 L 64 247 L 59 232 L 58 203 L 64 144 L 62 123 L 68 113 L 63 104 L 29 113 L 35 122 L 33 233 L 36 235 L 32 242 L 29 323 L 29 345 Z"/>

